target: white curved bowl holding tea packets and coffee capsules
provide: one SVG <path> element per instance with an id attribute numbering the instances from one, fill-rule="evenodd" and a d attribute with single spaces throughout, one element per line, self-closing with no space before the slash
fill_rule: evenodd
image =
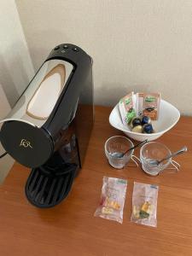
<path id="1" fill-rule="evenodd" d="M 135 96 L 134 96 L 135 100 Z M 116 129 L 123 131 L 128 137 L 134 140 L 142 142 L 146 139 L 148 141 L 154 141 L 158 137 L 162 136 L 166 131 L 169 131 L 174 125 L 177 124 L 180 118 L 180 113 L 172 106 L 171 103 L 164 100 L 160 100 L 160 115 L 157 121 L 152 121 L 154 127 L 154 133 L 138 133 L 130 131 L 128 125 L 123 125 L 121 116 L 119 113 L 119 103 L 113 108 L 109 116 L 109 123 Z"/>

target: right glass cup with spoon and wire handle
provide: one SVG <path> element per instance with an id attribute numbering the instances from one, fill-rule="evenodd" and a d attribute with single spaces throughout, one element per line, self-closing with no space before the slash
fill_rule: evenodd
<path id="1" fill-rule="evenodd" d="M 151 142 L 144 144 L 140 149 L 140 160 L 143 171 L 156 176 L 160 174 L 160 172 L 163 172 L 170 164 L 172 164 L 174 168 L 169 169 L 178 171 L 180 166 L 177 162 L 173 161 L 172 158 L 162 161 L 159 165 L 155 163 L 155 160 L 162 160 L 169 154 L 171 154 L 170 149 L 162 143 Z"/>

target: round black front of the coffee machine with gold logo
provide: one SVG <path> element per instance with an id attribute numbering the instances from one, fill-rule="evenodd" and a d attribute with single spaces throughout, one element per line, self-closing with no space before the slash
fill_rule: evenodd
<path id="1" fill-rule="evenodd" d="M 49 134 L 23 121 L 4 122 L 0 139 L 8 154 L 30 168 L 42 166 L 53 152 Z"/>

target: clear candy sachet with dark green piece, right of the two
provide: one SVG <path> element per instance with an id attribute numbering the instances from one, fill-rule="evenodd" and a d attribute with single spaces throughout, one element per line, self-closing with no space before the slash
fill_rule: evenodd
<path id="1" fill-rule="evenodd" d="M 134 183 L 131 222 L 157 226 L 157 198 L 159 186 Z"/>

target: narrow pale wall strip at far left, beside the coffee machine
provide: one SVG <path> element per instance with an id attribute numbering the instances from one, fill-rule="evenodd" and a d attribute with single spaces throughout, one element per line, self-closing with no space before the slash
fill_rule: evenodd
<path id="1" fill-rule="evenodd" d="M 14 0 L 1 0 L 0 9 L 0 119 L 14 106 L 34 74 Z M 0 154 L 4 152 L 0 145 Z M 0 183 L 13 165 L 9 155 L 0 161 Z"/>

